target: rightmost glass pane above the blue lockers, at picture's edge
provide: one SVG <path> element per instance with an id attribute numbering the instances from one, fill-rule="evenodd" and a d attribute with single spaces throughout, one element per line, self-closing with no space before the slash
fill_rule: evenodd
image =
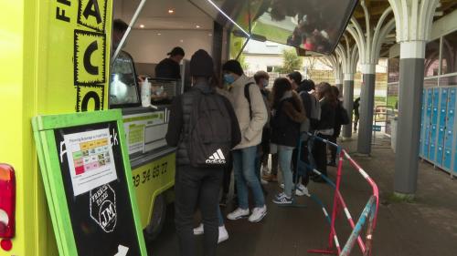
<path id="1" fill-rule="evenodd" d="M 457 31 L 442 37 L 441 74 L 457 72 Z"/>

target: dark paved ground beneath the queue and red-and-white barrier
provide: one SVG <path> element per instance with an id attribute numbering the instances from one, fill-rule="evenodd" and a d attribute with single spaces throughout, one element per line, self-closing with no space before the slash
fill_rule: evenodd
<path id="1" fill-rule="evenodd" d="M 409 203 L 392 200 L 395 154 L 390 149 L 388 139 L 379 141 L 383 141 L 383 145 L 374 146 L 371 157 L 355 157 L 377 181 L 381 193 L 373 255 L 456 255 L 456 180 L 450 179 L 448 173 L 420 162 L 415 200 Z M 356 152 L 356 140 L 346 141 L 343 145 L 349 152 Z M 334 179 L 335 169 L 329 169 L 329 173 Z M 329 227 L 320 207 L 309 198 L 300 199 L 307 205 L 304 209 L 278 207 L 271 203 L 277 185 L 269 184 L 267 187 L 268 216 L 259 224 L 251 224 L 247 220 L 226 220 L 230 238 L 219 245 L 219 256 L 316 255 L 307 250 L 326 246 Z M 333 193 L 328 185 L 311 182 L 309 188 L 328 207 L 331 205 Z M 353 218 L 358 219 L 370 188 L 356 171 L 348 167 L 347 161 L 341 188 Z M 231 210 L 230 206 L 225 212 L 228 210 Z M 173 207 L 168 208 L 167 215 L 163 233 L 157 241 L 148 245 L 149 255 L 177 255 Z M 345 243 L 350 229 L 343 216 L 336 228 L 340 242 Z M 361 255 L 356 247 L 351 255 Z"/>

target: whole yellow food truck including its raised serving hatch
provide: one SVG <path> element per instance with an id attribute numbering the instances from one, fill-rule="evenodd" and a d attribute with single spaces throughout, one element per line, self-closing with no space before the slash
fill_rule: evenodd
<path id="1" fill-rule="evenodd" d="M 160 36 L 156 31 L 143 32 L 142 25 L 135 21 L 157 9 L 173 15 L 177 10 L 185 13 L 192 12 L 190 7 L 194 8 L 194 12 L 201 16 L 188 17 L 196 20 L 190 25 L 195 31 L 187 33 L 185 39 L 198 39 L 203 34 L 207 37 L 203 43 L 196 39 L 194 48 L 187 50 L 186 58 L 190 58 L 192 50 L 207 47 L 215 59 L 216 72 L 220 72 L 223 61 L 239 56 L 242 51 L 242 47 L 236 46 L 239 41 L 245 46 L 249 40 L 268 39 L 297 49 L 329 54 L 335 49 L 356 6 L 353 0 L 328 1 L 332 5 L 307 0 L 300 2 L 300 6 L 292 6 L 297 5 L 292 1 L 260 0 L 131 2 L 135 1 L 2 2 L 0 256 L 58 255 L 37 160 L 37 146 L 33 140 L 31 118 L 37 115 L 122 109 L 144 237 L 154 239 L 160 233 L 166 205 L 174 197 L 175 148 L 169 148 L 165 143 L 169 104 L 190 87 L 188 61 L 181 63 L 181 79 L 154 77 L 153 71 L 144 70 L 153 70 L 157 61 L 134 63 L 132 58 L 119 55 L 120 48 L 112 48 L 114 18 L 121 17 L 129 23 L 125 38 L 132 31 L 136 34 L 133 39 L 142 33 L 146 37 L 151 33 Z M 341 5 L 341 8 L 335 5 Z M 283 9 L 284 6 L 287 9 Z M 128 18 L 122 13 L 125 9 L 132 9 Z M 294 10 L 292 14 L 288 11 L 291 9 Z M 335 14 L 327 15 L 332 19 L 323 23 L 322 14 L 329 10 Z M 165 20 L 173 20 L 173 17 Z M 197 29 L 197 22 L 202 20 L 210 24 L 203 32 Z M 181 22 L 188 23 L 186 20 Z M 175 35 L 183 33 L 179 29 L 183 30 L 178 27 Z M 138 44 L 154 40 L 140 42 L 125 38 L 122 41 L 128 43 L 124 47 L 126 52 L 139 48 Z M 186 48 L 185 40 L 177 38 L 175 44 L 181 43 Z M 170 45 L 173 42 L 166 44 L 168 39 L 161 40 L 162 45 L 169 49 L 173 47 Z M 122 67 L 113 65 L 113 55 Z M 165 53 L 156 52 L 154 55 L 163 57 Z M 159 100 L 153 97 L 151 107 L 142 107 L 139 75 L 148 77 L 153 94 L 160 96 Z"/>

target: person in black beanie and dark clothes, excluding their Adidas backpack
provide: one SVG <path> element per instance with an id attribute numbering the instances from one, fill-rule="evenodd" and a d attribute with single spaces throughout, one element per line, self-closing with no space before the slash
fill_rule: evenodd
<path id="1" fill-rule="evenodd" d="M 228 139 L 231 148 L 239 144 L 241 133 L 238 119 L 231 103 L 226 97 L 216 93 L 215 83 L 212 83 L 211 78 L 214 75 L 213 59 L 206 51 L 198 50 L 192 56 L 190 60 L 190 75 L 194 86 L 185 94 L 175 97 L 165 136 L 168 146 L 177 147 L 175 226 L 179 239 L 180 255 L 196 255 L 193 226 L 194 213 L 199 208 L 205 228 L 204 255 L 214 256 L 218 245 L 218 232 L 221 230 L 218 227 L 218 193 L 224 169 L 222 165 L 197 168 L 192 164 L 192 160 L 189 157 L 190 153 L 187 148 L 191 146 L 190 141 L 195 141 L 196 138 L 191 136 L 191 134 L 193 136 L 195 134 L 191 133 L 190 124 L 191 122 L 196 122 L 195 118 L 201 120 L 200 117 L 196 117 L 197 112 L 194 111 L 202 108 L 201 105 L 197 105 L 196 99 L 205 97 L 207 102 L 218 102 L 220 108 L 226 108 L 224 110 L 227 110 L 230 118 L 231 138 Z M 221 120 L 221 118 L 215 118 L 213 121 L 227 121 L 226 119 Z M 218 157 L 223 158 L 223 155 L 219 154 Z"/>

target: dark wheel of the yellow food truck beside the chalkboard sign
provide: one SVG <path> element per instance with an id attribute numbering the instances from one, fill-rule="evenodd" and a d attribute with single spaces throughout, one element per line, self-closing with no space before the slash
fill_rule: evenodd
<path id="1" fill-rule="evenodd" d="M 162 231 L 166 216 L 166 201 L 163 194 L 158 195 L 154 200 L 154 208 L 151 215 L 151 221 L 144 229 L 144 239 L 154 241 Z"/>

